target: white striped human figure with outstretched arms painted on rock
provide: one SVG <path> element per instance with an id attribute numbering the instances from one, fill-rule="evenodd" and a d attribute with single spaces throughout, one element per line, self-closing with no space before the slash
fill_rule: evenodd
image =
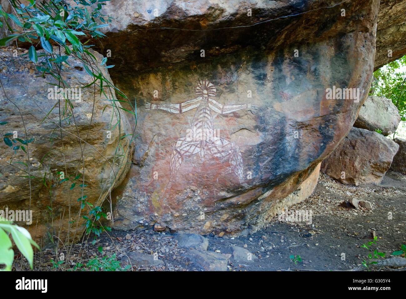
<path id="1" fill-rule="evenodd" d="M 216 86 L 206 80 L 199 82 L 196 87 L 196 94 L 197 98 L 178 104 L 145 104 L 147 110 L 162 109 L 170 113 L 184 113 L 197 108 L 188 135 L 176 140 L 172 146 L 170 181 L 175 181 L 184 156 L 199 154 L 202 162 L 206 155 L 220 158 L 229 157 L 230 168 L 242 183 L 244 178 L 240 148 L 233 142 L 217 136 L 218 134 L 213 128 L 212 111 L 226 114 L 256 107 L 251 104 L 222 105 L 218 103 L 213 99 L 216 96 Z"/>

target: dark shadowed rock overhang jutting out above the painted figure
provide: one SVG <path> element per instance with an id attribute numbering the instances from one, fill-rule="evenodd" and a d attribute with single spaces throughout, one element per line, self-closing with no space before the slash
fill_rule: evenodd
<path id="1" fill-rule="evenodd" d="M 115 78 L 198 60 L 201 50 L 209 60 L 247 47 L 275 50 L 352 31 L 369 31 L 376 20 L 363 11 L 365 3 L 166 1 L 158 2 L 159 13 L 148 19 L 140 17 L 149 13 L 137 1 L 110 1 L 105 13 L 123 17 L 104 28 L 108 37 L 95 44 L 102 54 L 111 50 L 110 61 L 116 66 L 110 74 Z"/>

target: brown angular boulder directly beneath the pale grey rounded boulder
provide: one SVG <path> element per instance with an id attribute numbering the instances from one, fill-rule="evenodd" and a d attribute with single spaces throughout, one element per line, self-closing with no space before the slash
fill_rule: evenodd
<path id="1" fill-rule="evenodd" d="M 399 145 L 376 132 L 352 128 L 321 170 L 344 184 L 380 183 Z"/>

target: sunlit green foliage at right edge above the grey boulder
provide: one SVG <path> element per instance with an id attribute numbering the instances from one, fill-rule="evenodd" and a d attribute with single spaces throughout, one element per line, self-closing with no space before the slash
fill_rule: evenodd
<path id="1" fill-rule="evenodd" d="M 406 121 L 406 74 L 401 71 L 405 67 L 406 56 L 376 70 L 370 91 L 372 95 L 389 98 L 399 110 L 402 121 Z"/>

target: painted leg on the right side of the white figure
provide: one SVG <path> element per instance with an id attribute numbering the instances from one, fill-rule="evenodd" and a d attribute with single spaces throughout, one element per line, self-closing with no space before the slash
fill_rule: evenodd
<path id="1" fill-rule="evenodd" d="M 240 183 L 244 181 L 243 164 L 240 148 L 220 137 L 213 137 L 207 140 L 207 152 L 214 157 L 229 156 L 230 168 L 237 175 Z"/>

